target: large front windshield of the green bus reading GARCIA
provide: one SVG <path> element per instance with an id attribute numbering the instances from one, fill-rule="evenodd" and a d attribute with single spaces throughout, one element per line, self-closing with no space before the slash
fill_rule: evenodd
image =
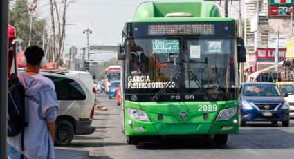
<path id="1" fill-rule="evenodd" d="M 203 94 L 201 89 L 205 88 L 213 94 L 237 88 L 233 38 L 131 39 L 128 49 L 126 89 L 156 93 L 153 89 L 158 91 L 168 84 L 169 91 Z M 179 70 L 181 75 L 171 81 Z"/>

